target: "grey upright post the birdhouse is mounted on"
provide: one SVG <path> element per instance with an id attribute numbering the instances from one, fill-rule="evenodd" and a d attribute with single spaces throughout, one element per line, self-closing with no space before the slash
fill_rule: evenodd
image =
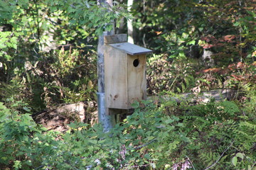
<path id="1" fill-rule="evenodd" d="M 101 6 L 105 4 L 112 6 L 112 0 L 97 0 L 97 2 Z M 98 119 L 99 123 L 102 124 L 105 132 L 109 131 L 114 126 L 114 115 L 107 115 L 105 109 L 104 36 L 113 34 L 114 27 L 112 31 L 105 31 L 102 33 L 102 35 L 99 36 L 97 45 Z"/>

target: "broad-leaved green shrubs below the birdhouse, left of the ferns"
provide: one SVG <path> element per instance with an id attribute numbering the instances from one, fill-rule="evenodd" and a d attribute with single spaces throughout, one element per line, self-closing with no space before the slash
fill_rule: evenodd
<path id="1" fill-rule="evenodd" d="M 100 125 L 88 128 L 84 123 L 72 123 L 58 137 L 38 127 L 28 113 L 19 114 L 1 103 L 0 164 L 14 169 L 164 166 L 181 142 L 189 140 L 178 130 L 183 126 L 178 118 L 163 116 L 154 104 L 147 106 L 108 133 Z"/>

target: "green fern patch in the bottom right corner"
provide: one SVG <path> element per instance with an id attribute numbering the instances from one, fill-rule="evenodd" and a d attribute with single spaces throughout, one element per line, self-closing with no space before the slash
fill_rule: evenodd
<path id="1" fill-rule="evenodd" d="M 248 120 L 233 101 L 185 108 L 181 115 L 191 139 L 185 151 L 196 169 L 250 169 L 255 164 L 255 120 Z M 247 127 L 245 127 L 245 124 Z M 247 156 L 234 164 L 237 153 Z M 236 156 L 235 156 L 236 157 Z"/>

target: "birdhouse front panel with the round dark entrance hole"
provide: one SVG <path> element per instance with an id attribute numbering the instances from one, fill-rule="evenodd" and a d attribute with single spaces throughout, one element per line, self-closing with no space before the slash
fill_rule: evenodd
<path id="1" fill-rule="evenodd" d="M 146 55 L 128 55 L 127 83 L 129 108 L 134 101 L 146 100 Z"/>

